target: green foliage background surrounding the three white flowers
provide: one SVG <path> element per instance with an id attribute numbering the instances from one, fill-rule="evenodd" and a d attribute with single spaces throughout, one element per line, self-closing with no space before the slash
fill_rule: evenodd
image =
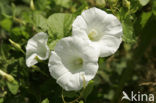
<path id="1" fill-rule="evenodd" d="M 53 50 L 90 7 L 118 17 L 123 43 L 113 56 L 99 59 L 86 88 L 66 92 L 50 76 L 48 60 L 26 67 L 25 46 L 44 31 Z M 155 41 L 156 0 L 0 0 L 0 103 L 121 103 L 123 90 L 156 94 Z"/>

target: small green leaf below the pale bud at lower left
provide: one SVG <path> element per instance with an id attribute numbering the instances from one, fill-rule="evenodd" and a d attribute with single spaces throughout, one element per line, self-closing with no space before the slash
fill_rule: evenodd
<path id="1" fill-rule="evenodd" d="M 16 80 L 7 81 L 7 86 L 8 86 L 8 88 L 12 94 L 15 95 L 18 92 L 19 85 L 18 85 L 18 82 Z"/>

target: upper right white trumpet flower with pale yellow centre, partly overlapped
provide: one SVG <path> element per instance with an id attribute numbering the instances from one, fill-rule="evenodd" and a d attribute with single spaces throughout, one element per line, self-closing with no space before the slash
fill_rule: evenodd
<path id="1" fill-rule="evenodd" d="M 100 57 L 117 51 L 122 34 L 119 20 L 95 7 L 83 11 L 72 24 L 72 35 L 90 42 L 99 51 Z"/>

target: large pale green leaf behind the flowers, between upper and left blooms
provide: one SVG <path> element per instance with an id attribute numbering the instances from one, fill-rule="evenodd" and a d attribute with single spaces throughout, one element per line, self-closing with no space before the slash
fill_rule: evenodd
<path id="1" fill-rule="evenodd" d="M 73 22 L 72 14 L 56 13 L 48 18 L 48 33 L 57 38 L 68 36 Z"/>

